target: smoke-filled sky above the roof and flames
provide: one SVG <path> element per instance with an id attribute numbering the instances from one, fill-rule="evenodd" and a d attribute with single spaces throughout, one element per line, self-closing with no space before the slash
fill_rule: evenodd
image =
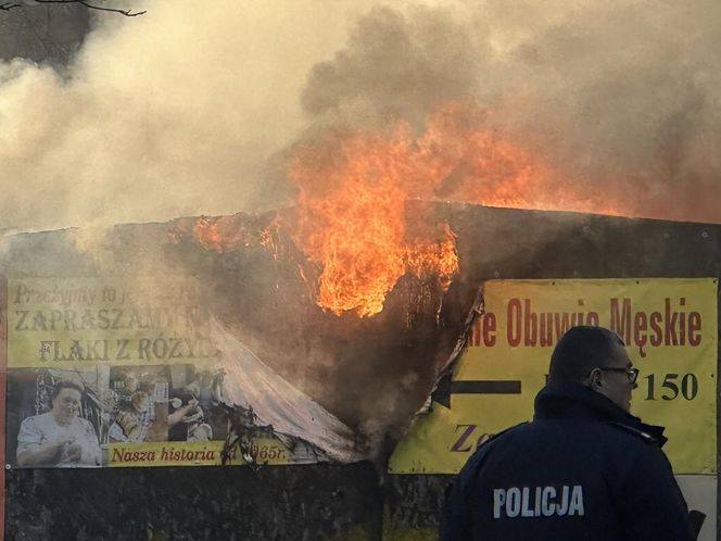
<path id="1" fill-rule="evenodd" d="M 115 3 L 148 13 L 93 16 L 68 76 L 0 63 L 0 230 L 292 204 L 298 141 L 455 100 L 593 197 L 721 223 L 717 0 Z"/>

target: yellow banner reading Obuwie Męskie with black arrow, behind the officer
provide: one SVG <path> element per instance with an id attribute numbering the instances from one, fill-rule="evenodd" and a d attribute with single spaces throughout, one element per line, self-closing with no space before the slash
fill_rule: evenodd
<path id="1" fill-rule="evenodd" d="M 396 446 L 391 473 L 456 473 L 479 442 L 530 420 L 557 340 L 599 325 L 641 369 L 631 413 L 667 427 L 676 474 L 716 471 L 717 280 L 493 280 L 453 368 L 447 406 L 432 403 Z"/>

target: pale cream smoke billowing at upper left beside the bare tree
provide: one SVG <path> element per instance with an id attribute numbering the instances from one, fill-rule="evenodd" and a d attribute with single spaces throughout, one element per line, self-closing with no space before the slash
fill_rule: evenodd
<path id="1" fill-rule="evenodd" d="M 304 125 L 307 72 L 367 9 L 350 0 L 281 10 L 236 0 L 115 4 L 148 13 L 93 15 L 62 77 L 0 62 L 0 229 L 248 210 L 267 156 Z"/>

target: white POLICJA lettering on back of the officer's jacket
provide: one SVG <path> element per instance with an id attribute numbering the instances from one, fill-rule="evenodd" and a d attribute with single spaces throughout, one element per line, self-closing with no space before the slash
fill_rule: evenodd
<path id="1" fill-rule="evenodd" d="M 570 494 L 570 499 L 569 499 Z M 533 499 L 531 499 L 533 496 Z M 560 498 L 555 487 L 493 489 L 493 518 L 583 516 L 583 487 L 564 485 Z"/>

